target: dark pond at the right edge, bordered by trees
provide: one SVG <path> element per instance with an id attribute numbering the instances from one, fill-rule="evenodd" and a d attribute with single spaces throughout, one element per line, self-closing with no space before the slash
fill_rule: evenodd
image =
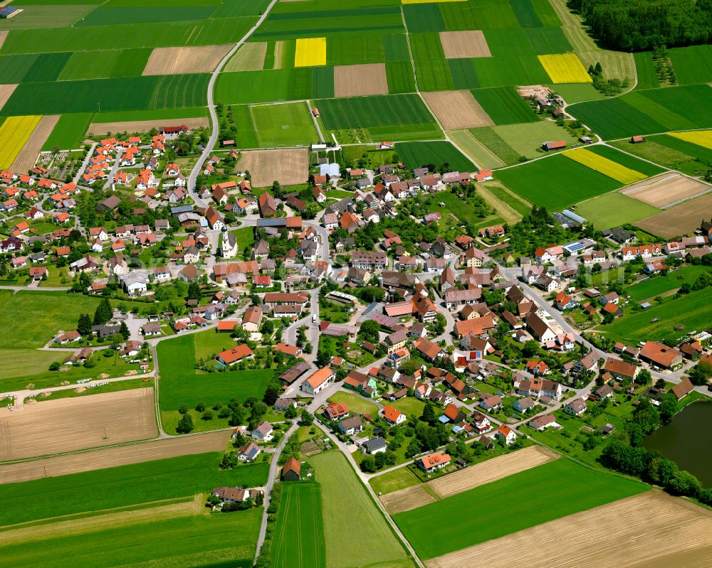
<path id="1" fill-rule="evenodd" d="M 712 402 L 694 402 L 685 407 L 670 424 L 648 436 L 643 445 L 676 461 L 680 469 L 692 473 L 703 486 L 712 487 Z"/>

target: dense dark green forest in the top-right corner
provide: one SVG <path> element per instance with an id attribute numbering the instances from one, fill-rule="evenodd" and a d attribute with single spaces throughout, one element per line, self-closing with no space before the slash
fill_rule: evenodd
<path id="1" fill-rule="evenodd" d="M 642 51 L 712 40 L 712 0 L 569 0 L 603 46 Z"/>

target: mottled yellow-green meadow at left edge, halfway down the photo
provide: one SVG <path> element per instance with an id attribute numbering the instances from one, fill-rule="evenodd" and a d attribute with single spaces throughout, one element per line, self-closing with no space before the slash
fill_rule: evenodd
<path id="1" fill-rule="evenodd" d="M 94 314 L 98 298 L 53 291 L 9 291 L 0 294 L 0 348 L 42 347 L 59 330 L 76 328 L 80 314 Z"/>

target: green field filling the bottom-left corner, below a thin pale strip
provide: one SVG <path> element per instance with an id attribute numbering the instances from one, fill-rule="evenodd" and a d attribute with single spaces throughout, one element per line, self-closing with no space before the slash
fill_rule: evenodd
<path id="1" fill-rule="evenodd" d="M 142 520 L 78 535 L 0 546 L 14 567 L 114 568 L 172 566 L 247 568 L 252 566 L 262 508 L 229 514 Z"/>

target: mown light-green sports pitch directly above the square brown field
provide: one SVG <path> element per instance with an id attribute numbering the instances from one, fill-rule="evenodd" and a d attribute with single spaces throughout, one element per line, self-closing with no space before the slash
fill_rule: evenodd
<path id="1" fill-rule="evenodd" d="M 303 102 L 251 107 L 260 146 L 308 146 L 318 141 L 311 114 Z"/>

